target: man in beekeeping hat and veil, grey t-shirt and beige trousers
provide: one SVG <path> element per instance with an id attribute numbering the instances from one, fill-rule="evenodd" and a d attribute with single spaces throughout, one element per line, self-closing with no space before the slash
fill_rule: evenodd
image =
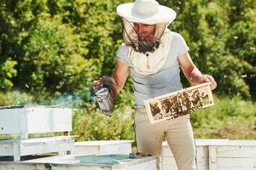
<path id="1" fill-rule="evenodd" d="M 196 68 L 183 37 L 167 28 L 176 18 L 172 8 L 162 6 L 155 0 L 136 0 L 135 3 L 120 4 L 117 14 L 122 18 L 124 42 L 117 52 L 113 93 L 119 93 L 131 74 L 137 109 L 137 150 L 160 156 L 166 136 L 178 169 L 195 170 L 195 139 L 190 116 L 151 125 L 143 100 L 183 89 L 181 70 L 193 84 L 212 82 L 214 89 L 217 83 L 212 76 L 204 75 Z M 160 159 L 157 166 L 161 169 Z"/>

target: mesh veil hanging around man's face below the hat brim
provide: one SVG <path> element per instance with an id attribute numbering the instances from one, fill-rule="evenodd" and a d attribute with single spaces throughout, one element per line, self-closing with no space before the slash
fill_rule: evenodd
<path id="1" fill-rule="evenodd" d="M 139 53 L 154 52 L 155 49 L 159 48 L 160 38 L 163 35 L 168 23 L 155 24 L 154 37 L 151 37 L 151 41 L 140 41 L 138 38 L 137 30 L 135 29 L 134 23 L 125 18 L 123 21 L 123 39 L 126 45 L 131 46 L 135 51 Z"/>

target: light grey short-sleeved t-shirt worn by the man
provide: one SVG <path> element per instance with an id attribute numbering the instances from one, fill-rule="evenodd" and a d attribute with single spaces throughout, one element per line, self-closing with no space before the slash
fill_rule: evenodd
<path id="1" fill-rule="evenodd" d="M 129 60 L 131 59 L 129 58 L 130 47 L 126 46 L 125 43 L 122 43 L 119 47 L 117 58 L 129 65 L 137 109 L 145 107 L 143 104 L 145 99 L 152 99 L 183 88 L 180 81 L 180 67 L 177 59 L 185 54 L 189 47 L 183 37 L 177 32 L 171 31 L 170 36 L 171 42 L 168 44 L 170 45 L 170 50 L 165 63 L 154 74 L 143 75 L 137 71 L 137 68 L 131 65 L 131 60 Z"/>

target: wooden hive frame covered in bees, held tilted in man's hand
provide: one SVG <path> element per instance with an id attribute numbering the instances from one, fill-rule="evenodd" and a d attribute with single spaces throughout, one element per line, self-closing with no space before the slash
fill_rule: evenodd
<path id="1" fill-rule="evenodd" d="M 184 116 L 214 105 L 210 82 L 144 100 L 151 124 Z"/>

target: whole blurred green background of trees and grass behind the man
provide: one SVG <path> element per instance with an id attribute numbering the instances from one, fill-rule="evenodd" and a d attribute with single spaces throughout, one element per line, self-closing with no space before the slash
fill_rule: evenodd
<path id="1" fill-rule="evenodd" d="M 79 134 L 79 140 L 133 139 L 131 77 L 119 95 L 113 117 L 100 114 L 90 88 L 94 80 L 112 74 L 122 42 L 122 24 L 115 8 L 128 2 L 2 0 L 0 105 L 66 105 L 76 108 L 73 133 Z M 236 117 L 249 129 L 245 131 L 255 133 L 255 1 L 158 2 L 177 12 L 169 28 L 183 35 L 195 64 L 218 82 L 215 109 L 192 116 L 195 134 L 216 137 L 216 131 L 206 131 L 204 136 L 197 132 L 207 127 L 205 122 L 216 126 L 210 129 L 221 129 L 223 117 L 225 122 Z M 189 86 L 184 77 L 183 83 Z M 227 105 L 229 111 L 224 109 Z M 240 106 L 245 111 L 238 111 Z M 218 116 L 209 112 L 218 112 Z M 256 139 L 251 133 L 229 138 Z M 226 133 L 220 137 L 227 138 Z"/>

